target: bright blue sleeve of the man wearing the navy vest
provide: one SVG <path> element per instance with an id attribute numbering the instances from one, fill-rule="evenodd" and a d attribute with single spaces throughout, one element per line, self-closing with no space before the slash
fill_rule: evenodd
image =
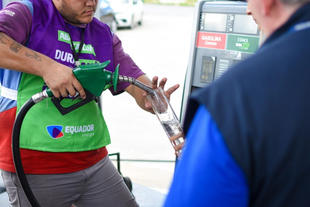
<path id="1" fill-rule="evenodd" d="M 248 206 L 245 173 L 204 106 L 198 108 L 186 138 L 164 206 Z"/>

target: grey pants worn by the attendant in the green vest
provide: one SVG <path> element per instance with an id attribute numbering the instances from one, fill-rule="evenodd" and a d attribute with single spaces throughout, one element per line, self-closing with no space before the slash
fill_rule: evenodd
<path id="1" fill-rule="evenodd" d="M 1 170 L 13 207 L 30 207 L 16 173 Z M 139 206 L 122 176 L 106 156 L 95 165 L 74 173 L 26 174 L 31 190 L 42 207 Z"/>

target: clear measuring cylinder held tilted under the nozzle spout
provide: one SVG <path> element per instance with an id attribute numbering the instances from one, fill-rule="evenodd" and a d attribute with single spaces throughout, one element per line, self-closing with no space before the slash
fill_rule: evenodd
<path id="1" fill-rule="evenodd" d="M 164 95 L 162 88 L 159 87 L 149 92 L 146 97 L 179 156 L 184 150 L 181 149 L 181 145 L 179 145 L 184 142 L 183 128 L 167 97 Z"/>

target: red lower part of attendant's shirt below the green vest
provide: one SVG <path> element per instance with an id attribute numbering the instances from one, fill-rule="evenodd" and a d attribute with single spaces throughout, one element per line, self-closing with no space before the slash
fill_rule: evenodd
<path id="1" fill-rule="evenodd" d="M 15 172 L 12 156 L 12 129 L 16 107 L 0 113 L 0 168 Z M 88 168 L 108 154 L 106 147 L 84 152 L 43 152 L 20 148 L 25 173 L 71 173 Z"/>

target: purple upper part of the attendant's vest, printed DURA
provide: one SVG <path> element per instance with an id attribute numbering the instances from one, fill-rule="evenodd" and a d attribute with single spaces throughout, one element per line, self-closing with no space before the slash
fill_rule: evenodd
<path id="1" fill-rule="evenodd" d="M 72 25 L 66 27 L 64 19 L 51 0 L 31 0 L 31 2 L 33 2 L 33 24 L 27 47 L 74 68 L 68 33 L 77 51 L 82 39 L 82 29 Z M 106 24 L 94 18 L 86 25 L 84 46 L 79 59 L 82 65 L 110 60 L 111 63 L 105 69 L 114 71 L 112 34 Z"/>

